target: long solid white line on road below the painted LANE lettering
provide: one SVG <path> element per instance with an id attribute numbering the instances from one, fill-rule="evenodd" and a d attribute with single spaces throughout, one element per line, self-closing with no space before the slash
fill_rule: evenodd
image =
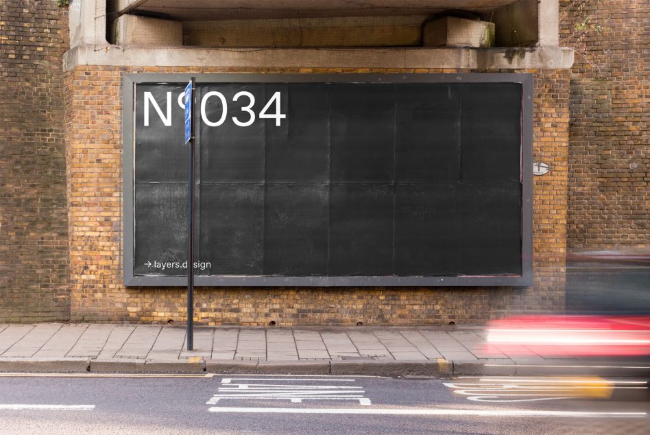
<path id="1" fill-rule="evenodd" d="M 451 409 L 383 409 L 383 408 L 232 408 L 214 406 L 210 412 L 248 412 L 263 414 L 368 414 L 415 416 L 488 416 L 488 417 L 581 417 L 644 418 L 646 412 L 588 412 L 549 410 L 451 410 Z"/>

